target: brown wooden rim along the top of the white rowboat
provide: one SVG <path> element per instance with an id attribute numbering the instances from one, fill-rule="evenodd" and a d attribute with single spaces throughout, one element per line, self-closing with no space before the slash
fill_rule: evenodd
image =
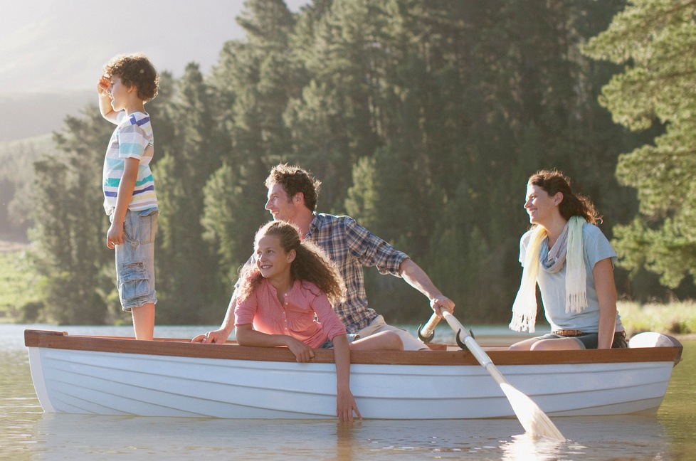
<path id="1" fill-rule="evenodd" d="M 70 335 L 51 330 L 24 331 L 27 347 L 70 349 L 75 351 L 112 352 L 120 354 L 147 354 L 154 356 L 181 356 L 201 359 L 228 359 L 253 361 L 294 362 L 295 356 L 286 348 L 240 346 L 233 341 L 226 344 L 191 343 L 189 339 L 155 339 L 136 341 L 127 337 L 94 337 Z M 486 349 L 486 348 L 484 348 Z M 604 349 L 584 351 L 507 351 L 487 349 L 497 366 L 549 364 L 604 364 L 627 362 L 673 361 L 681 359 L 682 346 L 650 347 L 640 349 Z M 351 351 L 352 364 L 391 365 L 478 365 L 473 354 L 461 350 L 433 351 Z M 314 363 L 333 363 L 333 351 L 316 350 Z"/>

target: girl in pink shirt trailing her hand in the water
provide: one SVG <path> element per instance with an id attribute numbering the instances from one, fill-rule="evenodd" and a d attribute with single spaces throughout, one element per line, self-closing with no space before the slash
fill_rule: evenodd
<path id="1" fill-rule="evenodd" d="M 243 267 L 236 288 L 237 342 L 287 346 L 298 362 L 310 361 L 313 349 L 334 349 L 337 415 L 342 421 L 352 421 L 353 413 L 361 418 L 349 387 L 349 349 L 403 349 L 399 335 L 348 337 L 332 308 L 344 299 L 344 282 L 317 245 L 300 241 L 292 224 L 272 221 L 258 230 L 254 242 L 255 264 Z"/>

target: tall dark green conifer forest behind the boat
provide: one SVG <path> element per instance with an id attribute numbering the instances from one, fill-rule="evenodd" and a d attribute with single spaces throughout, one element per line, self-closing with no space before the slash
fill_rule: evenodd
<path id="1" fill-rule="evenodd" d="M 404 250 L 466 322 L 510 317 L 529 226 L 526 180 L 542 168 L 566 172 L 596 202 L 606 235 L 622 230 L 621 295 L 692 294 L 683 274 L 660 285 L 641 269 L 655 270 L 645 259 L 655 235 L 646 233 L 660 232 L 678 207 L 645 208 L 630 162 L 621 184 L 616 176 L 627 153 L 674 124 L 643 107 L 643 123 L 631 126 L 603 93 L 639 64 L 631 55 L 639 38 L 615 37 L 625 41 L 616 55 L 607 51 L 616 43 L 601 42 L 625 8 L 616 0 L 315 0 L 292 13 L 282 0 L 246 1 L 237 18 L 246 38 L 222 44 L 209 73 L 196 63 L 181 78 L 162 73 L 146 106 L 162 210 L 157 323 L 221 321 L 253 234 L 270 219 L 263 183 L 278 162 L 310 169 L 322 181 L 318 211 L 349 214 Z M 112 129 L 90 105 L 65 119 L 58 153 L 34 164 L 29 236 L 43 275 L 40 319 L 122 318 L 100 189 Z M 376 270 L 367 282 L 390 322 L 427 319 L 426 299 L 404 282 Z"/>

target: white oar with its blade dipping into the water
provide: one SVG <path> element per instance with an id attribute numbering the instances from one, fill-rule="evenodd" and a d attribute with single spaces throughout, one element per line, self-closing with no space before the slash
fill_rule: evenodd
<path id="1" fill-rule="evenodd" d="M 433 316 L 437 317 L 436 314 L 433 314 Z M 459 323 L 459 320 L 445 310 L 443 310 L 443 317 L 450 327 L 452 327 L 458 338 L 460 334 L 464 336 L 464 344 L 466 344 L 467 349 L 474 354 L 478 363 L 481 364 L 481 366 L 490 373 L 490 376 L 495 379 L 495 382 L 500 385 L 500 388 L 505 393 L 505 396 L 507 396 L 507 400 L 510 401 L 512 410 L 515 411 L 515 415 L 517 415 L 517 419 L 520 420 L 524 430 L 531 435 L 543 435 L 544 437 L 556 440 L 566 440 L 547 414 L 544 413 L 531 398 L 521 391 L 518 391 L 507 382 L 505 376 L 502 376 L 502 373 L 498 371 L 488 354 L 486 354 L 475 339 L 467 333 L 466 329 Z"/>

